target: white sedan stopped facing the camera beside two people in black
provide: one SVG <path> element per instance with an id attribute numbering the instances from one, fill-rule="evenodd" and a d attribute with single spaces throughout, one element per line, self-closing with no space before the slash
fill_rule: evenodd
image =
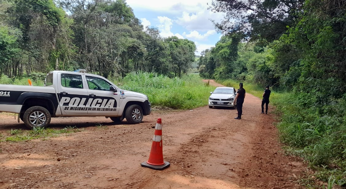
<path id="1" fill-rule="evenodd" d="M 236 103 L 234 98 L 237 95 L 236 89 L 233 87 L 217 87 L 213 92 L 210 92 L 209 108 L 213 106 L 235 108 Z"/>

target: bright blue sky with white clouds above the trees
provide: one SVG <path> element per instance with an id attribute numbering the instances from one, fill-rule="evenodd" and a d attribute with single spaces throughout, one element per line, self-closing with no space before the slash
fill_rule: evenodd
<path id="1" fill-rule="evenodd" d="M 221 34 L 212 20 L 220 21 L 223 14 L 208 10 L 212 0 L 126 0 L 144 28 L 155 27 L 161 37 L 177 36 L 193 41 L 196 55 L 215 47 Z"/>

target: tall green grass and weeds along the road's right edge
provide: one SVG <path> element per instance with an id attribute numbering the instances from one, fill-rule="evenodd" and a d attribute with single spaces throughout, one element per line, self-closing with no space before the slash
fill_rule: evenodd
<path id="1" fill-rule="evenodd" d="M 309 94 L 286 93 L 275 102 L 280 139 L 288 152 L 304 158 L 316 177 L 346 186 L 346 96 L 319 106 Z"/>

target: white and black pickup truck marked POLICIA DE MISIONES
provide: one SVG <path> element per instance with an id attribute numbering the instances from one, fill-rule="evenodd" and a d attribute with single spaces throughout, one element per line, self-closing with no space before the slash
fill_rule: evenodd
<path id="1" fill-rule="evenodd" d="M 85 70 L 51 71 L 44 87 L 0 84 L 0 112 L 11 112 L 29 128 L 46 127 L 51 117 L 104 116 L 138 124 L 151 113 L 148 97 L 126 91 Z"/>

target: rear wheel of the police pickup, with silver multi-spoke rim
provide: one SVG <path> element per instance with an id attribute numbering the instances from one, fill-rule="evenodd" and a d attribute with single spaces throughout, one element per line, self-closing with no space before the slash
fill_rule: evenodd
<path id="1" fill-rule="evenodd" d="M 24 112 L 23 121 L 31 129 L 46 127 L 51 123 L 51 114 L 42 106 L 33 106 Z"/>

